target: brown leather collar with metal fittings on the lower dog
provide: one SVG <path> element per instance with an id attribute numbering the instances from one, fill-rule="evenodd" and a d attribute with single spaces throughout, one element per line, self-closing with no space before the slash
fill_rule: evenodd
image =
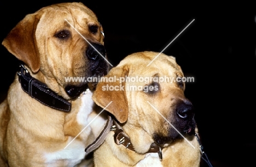
<path id="1" fill-rule="evenodd" d="M 114 134 L 115 144 L 124 145 L 126 147 L 126 149 L 135 151 L 129 136 L 124 133 L 123 129 L 121 129 L 121 127 L 118 125 L 118 123 L 114 119 L 113 119 L 113 126 L 111 127 L 110 130 L 115 132 L 115 134 Z M 146 153 L 156 153 L 156 152 L 158 153 L 158 156 L 161 161 L 162 160 L 162 148 L 160 146 L 156 145 L 155 143 L 152 143 L 152 145 L 150 146 L 150 149 Z"/>

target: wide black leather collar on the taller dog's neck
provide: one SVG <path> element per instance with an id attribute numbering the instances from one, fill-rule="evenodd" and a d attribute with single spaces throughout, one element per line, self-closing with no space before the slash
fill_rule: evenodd
<path id="1" fill-rule="evenodd" d="M 24 65 L 20 65 L 20 71 L 17 73 L 21 88 L 27 92 L 32 98 L 36 99 L 45 106 L 61 110 L 63 112 L 70 112 L 71 103 L 65 98 L 59 96 L 48 86 L 30 75 Z"/>

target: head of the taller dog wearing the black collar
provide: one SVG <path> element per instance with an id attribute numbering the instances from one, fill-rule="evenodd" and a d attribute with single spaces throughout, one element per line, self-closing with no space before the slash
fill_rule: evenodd
<path id="1" fill-rule="evenodd" d="M 28 14 L 2 44 L 23 61 L 32 76 L 69 99 L 87 87 L 85 78 L 108 72 L 103 32 L 82 3 L 60 3 Z M 67 81 L 67 78 L 85 81 Z"/>

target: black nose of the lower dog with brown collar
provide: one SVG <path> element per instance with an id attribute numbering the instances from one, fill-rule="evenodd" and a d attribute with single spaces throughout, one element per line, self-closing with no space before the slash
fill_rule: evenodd
<path id="1" fill-rule="evenodd" d="M 191 119 L 194 116 L 193 105 L 190 101 L 185 100 L 182 103 L 179 103 L 176 108 L 176 113 L 179 118 L 187 120 Z"/>

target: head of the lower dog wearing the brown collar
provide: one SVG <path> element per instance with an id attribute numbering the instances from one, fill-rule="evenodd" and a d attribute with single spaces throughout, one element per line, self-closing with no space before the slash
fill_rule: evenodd
<path id="1" fill-rule="evenodd" d="M 162 53 L 152 61 L 158 54 L 128 55 L 98 83 L 92 96 L 102 108 L 112 102 L 106 110 L 123 123 L 135 147 L 134 143 L 168 145 L 181 134 L 195 132 L 193 105 L 184 96 L 182 69 L 174 57 Z M 114 77 L 116 81 L 107 82 Z"/>

